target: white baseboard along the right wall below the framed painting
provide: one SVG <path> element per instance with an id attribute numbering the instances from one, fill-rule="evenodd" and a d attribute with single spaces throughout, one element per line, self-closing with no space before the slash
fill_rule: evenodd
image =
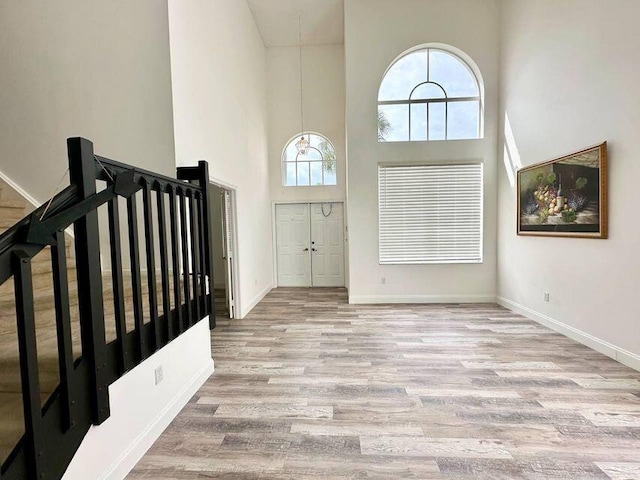
<path id="1" fill-rule="evenodd" d="M 565 337 L 569 337 L 572 340 L 575 340 L 582 345 L 585 345 L 593 350 L 600 352 L 607 357 L 610 357 L 628 367 L 633 368 L 634 370 L 640 371 L 640 356 L 635 353 L 629 352 L 623 348 L 617 347 L 605 340 L 602 340 L 598 337 L 594 337 L 593 335 L 583 332 L 575 327 L 567 325 L 566 323 L 562 323 L 554 318 L 549 317 L 540 312 L 536 312 L 535 310 L 525 307 L 517 302 L 509 300 L 504 297 L 497 297 L 496 301 L 499 305 L 502 305 L 509 310 L 519 313 L 534 322 L 540 323 L 545 327 L 550 328 L 558 333 L 561 333 Z"/>

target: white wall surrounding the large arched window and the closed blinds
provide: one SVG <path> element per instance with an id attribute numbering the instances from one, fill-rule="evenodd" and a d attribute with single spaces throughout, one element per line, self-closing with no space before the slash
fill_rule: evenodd
<path id="1" fill-rule="evenodd" d="M 493 0 L 346 0 L 346 126 L 350 300 L 480 301 L 495 298 L 498 4 Z M 485 137 L 448 142 L 378 143 L 382 76 L 402 52 L 445 43 L 470 55 L 484 77 Z M 484 262 L 378 265 L 377 165 L 482 159 Z M 381 284 L 381 277 L 386 284 Z"/>

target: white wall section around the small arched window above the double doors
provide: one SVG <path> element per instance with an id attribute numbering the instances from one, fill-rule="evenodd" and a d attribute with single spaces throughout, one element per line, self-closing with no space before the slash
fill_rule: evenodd
<path id="1" fill-rule="evenodd" d="M 345 197 L 344 46 L 303 48 L 304 128 L 321 133 L 336 148 L 337 185 L 283 187 L 282 150 L 300 133 L 298 47 L 267 49 L 269 178 L 273 201 L 336 200 Z"/>

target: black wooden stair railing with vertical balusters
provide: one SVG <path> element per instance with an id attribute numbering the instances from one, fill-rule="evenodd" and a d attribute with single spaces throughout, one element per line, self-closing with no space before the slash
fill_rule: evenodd
<path id="1" fill-rule="evenodd" d="M 37 209 L 0 236 L 0 285 L 14 282 L 25 423 L 24 436 L 0 468 L 2 480 L 61 478 L 89 427 L 109 417 L 110 384 L 207 315 L 215 326 L 207 163 L 178 168 L 178 179 L 173 179 L 96 156 L 93 144 L 83 138 L 71 138 L 67 145 L 71 185 L 48 209 Z M 98 181 L 106 188 L 98 191 Z M 126 212 L 119 208 L 119 197 L 126 198 Z M 105 204 L 108 222 L 101 225 L 98 208 Z M 70 226 L 75 232 L 82 346 L 75 360 L 64 233 Z M 109 239 L 110 272 L 101 267 L 101 229 L 108 229 L 102 233 Z M 123 238 L 129 244 L 126 259 Z M 31 262 L 47 246 L 59 384 L 41 406 Z M 130 266 L 130 279 L 123 262 Z M 112 299 L 104 298 L 103 281 L 112 289 Z M 127 295 L 133 305 L 130 330 Z M 115 318 L 115 340 L 109 342 L 107 301 L 113 302 L 109 307 Z"/>

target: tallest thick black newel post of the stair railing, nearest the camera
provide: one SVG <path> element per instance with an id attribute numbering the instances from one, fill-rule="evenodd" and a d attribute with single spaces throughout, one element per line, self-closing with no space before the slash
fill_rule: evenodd
<path id="1" fill-rule="evenodd" d="M 93 143 L 85 138 L 69 138 L 69 177 L 80 200 L 96 193 Z M 99 425 L 109 418 L 107 357 L 100 267 L 98 212 L 93 210 L 74 223 L 78 306 L 82 357 L 88 362 L 91 378 L 91 421 Z"/>

